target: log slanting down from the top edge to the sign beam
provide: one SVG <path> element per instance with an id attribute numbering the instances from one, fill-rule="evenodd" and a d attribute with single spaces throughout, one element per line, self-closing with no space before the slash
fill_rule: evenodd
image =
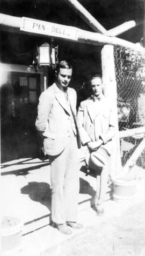
<path id="1" fill-rule="evenodd" d="M 77 0 L 64 0 L 95 32 L 108 35 L 107 30 Z M 91 3 L 90 3 L 91 4 Z"/>

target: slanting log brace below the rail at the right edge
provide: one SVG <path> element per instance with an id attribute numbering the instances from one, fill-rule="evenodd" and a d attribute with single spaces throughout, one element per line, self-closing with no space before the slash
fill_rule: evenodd
<path id="1" fill-rule="evenodd" d="M 128 173 L 129 171 L 131 171 L 132 167 L 136 163 L 137 158 L 139 158 L 144 148 L 145 148 L 145 138 L 141 141 L 139 146 L 136 147 L 136 150 L 133 152 L 132 156 L 128 159 L 127 163 L 123 168 L 124 173 Z"/>

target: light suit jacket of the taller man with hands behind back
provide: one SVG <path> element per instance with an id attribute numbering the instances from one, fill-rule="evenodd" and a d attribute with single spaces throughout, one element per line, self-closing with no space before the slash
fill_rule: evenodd
<path id="1" fill-rule="evenodd" d="M 71 112 L 76 123 L 76 91 L 68 87 Z M 70 132 L 70 109 L 59 87 L 54 83 L 41 93 L 38 104 L 36 128 L 44 138 L 44 150 L 50 156 L 60 154 L 66 145 Z M 79 139 L 79 138 L 78 138 Z M 81 144 L 78 142 L 78 144 Z"/>

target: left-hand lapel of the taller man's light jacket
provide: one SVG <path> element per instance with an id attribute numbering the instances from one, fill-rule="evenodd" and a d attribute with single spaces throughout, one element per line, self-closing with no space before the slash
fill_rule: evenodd
<path id="1" fill-rule="evenodd" d="M 67 101 L 55 83 L 53 84 L 53 88 L 54 88 L 54 95 L 55 95 L 57 101 L 60 103 L 60 105 L 63 107 L 63 109 L 66 110 L 70 114 L 69 107 L 67 105 Z"/>

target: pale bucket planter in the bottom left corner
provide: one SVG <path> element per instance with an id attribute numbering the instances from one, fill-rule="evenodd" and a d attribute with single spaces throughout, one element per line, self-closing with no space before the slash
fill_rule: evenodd
<path id="1" fill-rule="evenodd" d="M 16 217 L 2 217 L 1 246 L 2 256 L 11 255 L 21 250 L 23 224 Z"/>

